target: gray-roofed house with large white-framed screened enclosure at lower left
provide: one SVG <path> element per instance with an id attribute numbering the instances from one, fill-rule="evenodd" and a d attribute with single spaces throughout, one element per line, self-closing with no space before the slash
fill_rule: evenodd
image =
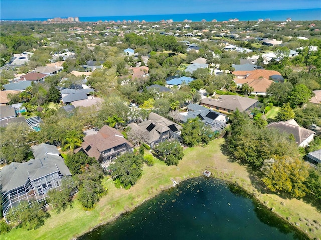
<path id="1" fill-rule="evenodd" d="M 62 179 L 71 177 L 55 146 L 42 143 L 32 150 L 36 159 L 12 162 L 0 171 L 3 215 L 7 222 L 11 210 L 16 210 L 21 203 L 47 205 L 48 191 L 60 190 Z"/>

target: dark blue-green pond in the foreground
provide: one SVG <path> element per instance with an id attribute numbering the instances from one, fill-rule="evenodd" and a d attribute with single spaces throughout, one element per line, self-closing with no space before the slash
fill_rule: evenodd
<path id="1" fill-rule="evenodd" d="M 242 190 L 203 176 L 181 182 L 79 239 L 199 238 L 305 239 Z"/>

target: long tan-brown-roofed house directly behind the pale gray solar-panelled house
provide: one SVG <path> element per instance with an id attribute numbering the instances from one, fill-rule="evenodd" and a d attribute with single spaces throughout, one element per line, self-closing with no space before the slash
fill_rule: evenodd
<path id="1" fill-rule="evenodd" d="M 249 97 L 237 95 L 222 95 L 218 99 L 201 99 L 200 105 L 226 113 L 231 113 L 236 111 L 236 109 L 238 109 L 240 112 L 250 112 L 255 107 L 259 107 L 259 101 Z"/>

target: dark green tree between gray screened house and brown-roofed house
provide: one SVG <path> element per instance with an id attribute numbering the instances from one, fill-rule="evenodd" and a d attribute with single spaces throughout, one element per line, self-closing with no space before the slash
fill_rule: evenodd
<path id="1" fill-rule="evenodd" d="M 83 152 L 68 155 L 65 163 L 72 175 L 81 174 L 83 172 L 82 168 L 86 165 L 98 164 L 94 157 L 89 157 Z"/>

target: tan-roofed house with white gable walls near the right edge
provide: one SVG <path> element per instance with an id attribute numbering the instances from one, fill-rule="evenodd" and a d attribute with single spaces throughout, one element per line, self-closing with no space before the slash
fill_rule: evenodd
<path id="1" fill-rule="evenodd" d="M 313 140 L 314 131 L 300 127 L 294 119 L 287 121 L 271 122 L 266 127 L 278 129 L 280 132 L 293 135 L 299 147 L 306 147 Z"/>

